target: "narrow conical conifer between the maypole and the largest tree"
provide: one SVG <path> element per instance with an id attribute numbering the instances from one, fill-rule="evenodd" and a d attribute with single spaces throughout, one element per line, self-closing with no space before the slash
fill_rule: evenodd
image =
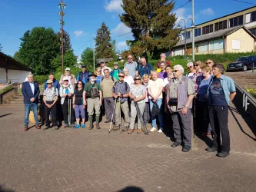
<path id="1" fill-rule="evenodd" d="M 97 30 L 96 36 L 96 58 L 113 58 L 114 53 L 111 45 L 110 31 L 105 25 L 105 22 L 101 24 L 101 28 Z"/>

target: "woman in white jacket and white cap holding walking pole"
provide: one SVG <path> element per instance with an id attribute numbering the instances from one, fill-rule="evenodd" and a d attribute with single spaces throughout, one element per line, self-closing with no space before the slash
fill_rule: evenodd
<path id="1" fill-rule="evenodd" d="M 73 127 L 75 124 L 74 110 L 71 108 L 71 97 L 74 94 L 74 88 L 71 84 L 68 84 L 68 77 L 63 78 L 63 84 L 59 91 L 62 104 L 62 112 L 64 117 L 64 127 Z M 70 116 L 70 119 L 68 119 Z"/>

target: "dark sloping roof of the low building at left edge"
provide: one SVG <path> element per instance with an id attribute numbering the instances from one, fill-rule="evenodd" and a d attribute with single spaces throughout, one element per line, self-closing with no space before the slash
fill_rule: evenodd
<path id="1" fill-rule="evenodd" d="M 20 62 L 16 61 L 14 58 L 0 52 L 0 68 L 22 70 L 22 71 L 33 71 L 31 68 L 22 65 Z"/>

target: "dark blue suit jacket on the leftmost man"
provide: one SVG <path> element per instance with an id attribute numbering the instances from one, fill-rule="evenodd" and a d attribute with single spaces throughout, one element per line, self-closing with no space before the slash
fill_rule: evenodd
<path id="1" fill-rule="evenodd" d="M 24 83 L 22 83 L 22 94 L 24 97 L 24 104 L 31 104 L 31 101 L 30 101 L 31 98 L 35 98 L 34 103 L 38 103 L 38 97 L 40 94 L 38 82 L 34 82 L 34 87 L 35 87 L 35 91 L 33 94 L 28 81 L 25 81 Z"/>

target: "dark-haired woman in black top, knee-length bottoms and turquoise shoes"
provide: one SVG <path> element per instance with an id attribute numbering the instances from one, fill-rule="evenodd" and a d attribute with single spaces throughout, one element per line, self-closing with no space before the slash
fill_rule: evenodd
<path id="1" fill-rule="evenodd" d="M 82 81 L 78 81 L 75 86 L 73 97 L 73 108 L 75 110 L 76 125 L 75 128 L 80 127 L 80 115 L 81 114 L 81 127 L 85 128 L 85 105 L 83 102 L 83 91 L 85 84 Z"/>

